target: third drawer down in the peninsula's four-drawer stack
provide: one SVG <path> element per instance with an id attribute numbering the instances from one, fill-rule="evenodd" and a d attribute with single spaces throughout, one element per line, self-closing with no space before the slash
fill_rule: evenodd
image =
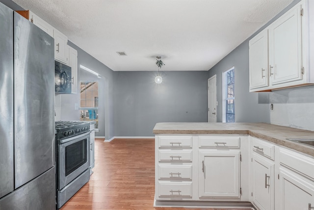
<path id="1" fill-rule="evenodd" d="M 159 179 L 191 180 L 192 166 L 159 165 Z"/>

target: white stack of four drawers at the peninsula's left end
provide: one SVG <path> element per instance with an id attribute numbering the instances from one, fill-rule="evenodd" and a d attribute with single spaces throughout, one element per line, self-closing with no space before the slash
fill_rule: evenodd
<path id="1" fill-rule="evenodd" d="M 185 201 L 193 196 L 191 136 L 156 136 L 155 196 L 157 200 Z"/>

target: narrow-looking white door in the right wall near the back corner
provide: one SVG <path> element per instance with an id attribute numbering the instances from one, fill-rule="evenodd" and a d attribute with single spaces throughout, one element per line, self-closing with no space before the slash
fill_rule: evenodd
<path id="1" fill-rule="evenodd" d="M 208 79 L 208 122 L 216 122 L 216 75 Z"/>

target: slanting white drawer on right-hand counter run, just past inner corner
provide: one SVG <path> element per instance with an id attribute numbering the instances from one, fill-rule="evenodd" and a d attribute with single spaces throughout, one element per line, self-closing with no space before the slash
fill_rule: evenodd
<path id="1" fill-rule="evenodd" d="M 274 160 L 275 145 L 252 137 L 252 150 L 256 153 Z"/>

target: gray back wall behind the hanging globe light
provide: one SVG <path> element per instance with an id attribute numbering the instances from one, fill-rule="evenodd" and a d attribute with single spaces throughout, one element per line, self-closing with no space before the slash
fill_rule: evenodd
<path id="1" fill-rule="evenodd" d="M 157 122 L 207 122 L 207 71 L 115 72 L 115 136 L 153 136 Z"/>

